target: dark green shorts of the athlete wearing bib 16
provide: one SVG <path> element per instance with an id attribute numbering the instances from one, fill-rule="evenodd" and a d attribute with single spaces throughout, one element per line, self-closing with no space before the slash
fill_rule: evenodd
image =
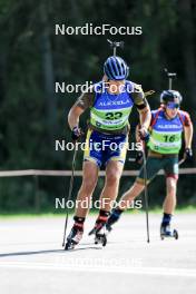
<path id="1" fill-rule="evenodd" d="M 178 157 L 148 157 L 146 160 L 147 183 L 154 179 L 160 169 L 164 169 L 166 177 L 178 179 Z M 136 180 L 138 183 L 144 183 L 144 166 L 139 170 Z"/>

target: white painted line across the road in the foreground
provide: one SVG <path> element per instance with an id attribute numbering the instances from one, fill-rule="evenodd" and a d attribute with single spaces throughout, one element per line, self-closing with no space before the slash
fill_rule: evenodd
<path id="1" fill-rule="evenodd" d="M 95 273 L 119 273 L 136 275 L 160 275 L 196 278 L 196 268 L 170 268 L 170 267 L 138 267 L 138 266 L 88 266 L 51 263 L 26 263 L 26 262 L 1 262 L 0 268 L 21 268 L 38 271 L 67 271 L 67 272 L 95 272 Z"/>

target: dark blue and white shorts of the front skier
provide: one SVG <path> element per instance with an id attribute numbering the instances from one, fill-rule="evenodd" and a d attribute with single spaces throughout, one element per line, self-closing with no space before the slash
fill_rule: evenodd
<path id="1" fill-rule="evenodd" d="M 127 153 L 127 135 L 107 135 L 97 130 L 88 130 L 84 160 L 94 161 L 99 167 L 109 160 L 125 163 Z"/>

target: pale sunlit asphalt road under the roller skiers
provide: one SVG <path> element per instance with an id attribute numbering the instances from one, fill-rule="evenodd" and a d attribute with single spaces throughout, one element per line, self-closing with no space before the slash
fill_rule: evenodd
<path id="1" fill-rule="evenodd" d="M 106 247 L 88 236 L 75 251 L 61 247 L 63 218 L 0 219 L 1 294 L 196 293 L 196 216 L 179 214 L 179 239 L 159 238 L 160 215 L 124 215 Z M 69 228 L 71 220 L 69 222 Z"/>

